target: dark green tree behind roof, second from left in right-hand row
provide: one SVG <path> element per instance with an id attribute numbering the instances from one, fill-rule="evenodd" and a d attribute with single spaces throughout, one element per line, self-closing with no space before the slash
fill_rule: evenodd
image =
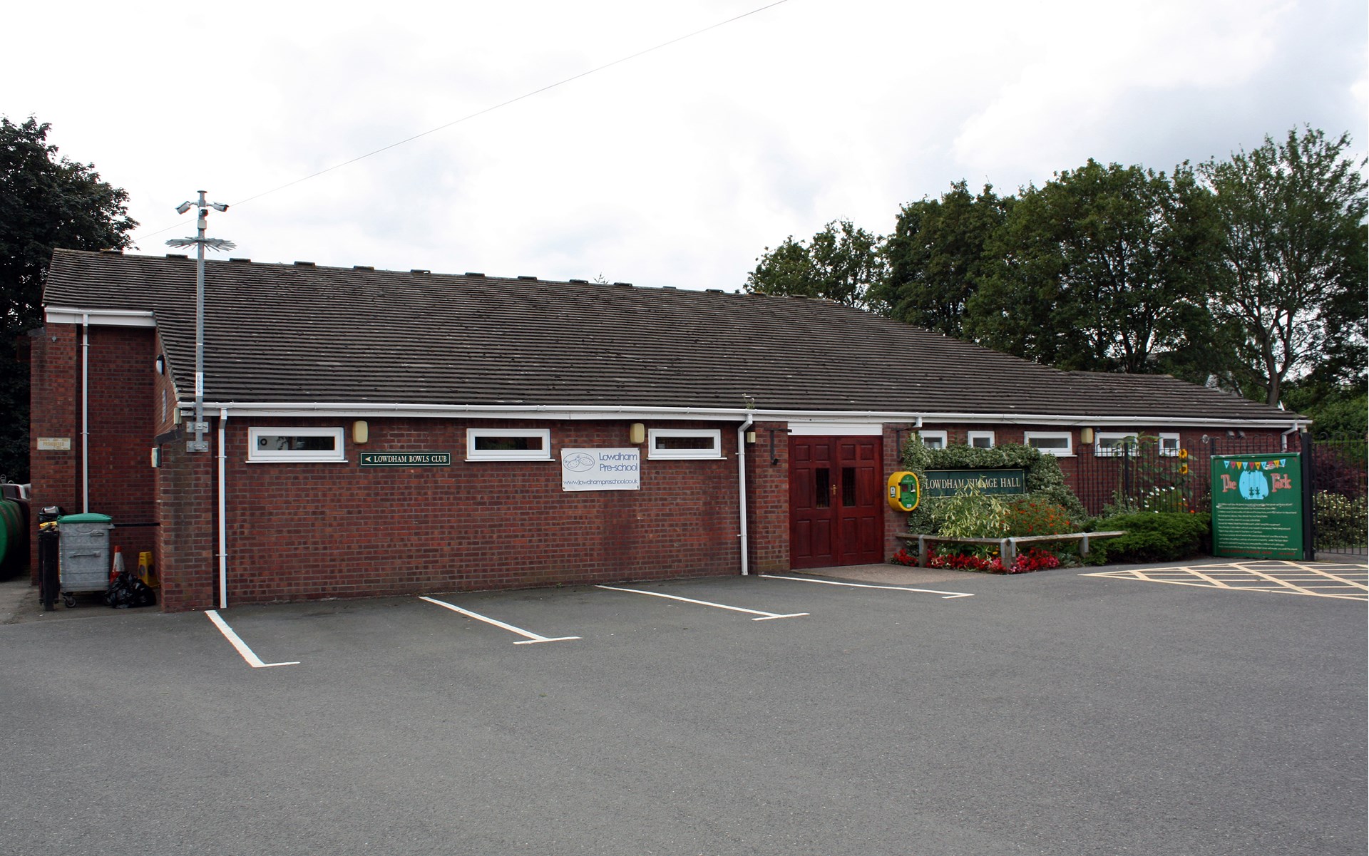
<path id="1" fill-rule="evenodd" d="M 1010 202 L 988 185 L 976 197 L 960 180 L 939 200 L 904 205 L 888 237 L 888 280 L 872 298 L 899 321 L 962 336 L 965 305 L 988 267 L 984 248 Z"/>

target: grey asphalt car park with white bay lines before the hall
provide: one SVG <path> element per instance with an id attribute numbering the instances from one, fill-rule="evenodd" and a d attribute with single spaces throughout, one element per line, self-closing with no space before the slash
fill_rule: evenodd
<path id="1" fill-rule="evenodd" d="M 832 583 L 3 625 L 0 849 L 1365 852 L 1362 602 Z"/>

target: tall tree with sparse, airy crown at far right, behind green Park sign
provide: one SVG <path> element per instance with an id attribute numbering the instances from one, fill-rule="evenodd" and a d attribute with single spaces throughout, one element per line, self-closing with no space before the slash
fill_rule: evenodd
<path id="1" fill-rule="evenodd" d="M 1276 405 L 1318 368 L 1364 376 L 1365 179 L 1348 148 L 1292 129 L 1199 170 L 1223 228 L 1210 309 L 1235 331 L 1227 380 L 1250 398 Z"/>

